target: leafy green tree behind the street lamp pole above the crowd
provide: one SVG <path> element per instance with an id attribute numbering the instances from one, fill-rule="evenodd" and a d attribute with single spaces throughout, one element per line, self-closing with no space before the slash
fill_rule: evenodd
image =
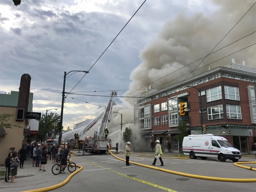
<path id="1" fill-rule="evenodd" d="M 59 121 L 60 121 L 60 115 L 57 113 L 51 112 L 50 114 L 47 114 L 47 121 L 46 120 L 46 114 L 42 114 L 41 119 L 39 120 L 39 127 L 37 132 L 37 141 L 44 140 L 45 133 L 49 133 L 49 131 L 52 131 L 52 129 L 59 131 Z M 46 130 L 45 130 L 45 122 L 46 124 Z"/>

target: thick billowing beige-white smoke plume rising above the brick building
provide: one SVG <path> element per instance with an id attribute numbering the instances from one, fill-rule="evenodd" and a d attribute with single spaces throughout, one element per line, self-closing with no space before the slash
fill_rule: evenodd
<path id="1" fill-rule="evenodd" d="M 212 3 L 218 5 L 219 9 L 208 16 L 204 16 L 203 13 L 196 13 L 191 16 L 180 13 L 175 19 L 165 23 L 158 38 L 140 52 L 140 58 L 143 61 L 131 73 L 130 90 L 140 89 L 149 84 L 153 89 L 155 87 L 161 89 L 187 78 L 188 75 L 185 74 L 192 72 L 202 60 L 183 69 L 181 68 L 207 56 L 249 10 L 254 1 L 212 1 Z M 255 7 L 254 5 L 213 51 L 255 31 Z M 254 33 L 225 49 L 211 54 L 199 65 L 199 68 L 255 42 L 256 35 Z M 255 67 L 255 52 L 255 45 L 253 45 L 226 59 L 196 70 L 189 77 L 208 70 L 209 66 L 215 68 L 230 64 L 231 58 L 236 58 L 237 63 L 245 61 L 246 65 Z M 177 71 L 178 69 L 181 70 Z M 171 75 L 161 79 L 168 74 Z M 156 80 L 158 81 L 155 82 Z M 166 82 L 170 83 L 164 84 Z M 161 86 L 162 84 L 163 86 Z M 131 92 L 128 91 L 126 94 Z M 138 95 L 138 92 L 133 95 Z"/>

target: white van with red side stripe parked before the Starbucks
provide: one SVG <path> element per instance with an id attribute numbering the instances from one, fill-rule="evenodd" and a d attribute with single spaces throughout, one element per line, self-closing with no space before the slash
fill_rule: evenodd
<path id="1" fill-rule="evenodd" d="M 211 157 L 218 158 L 222 162 L 225 162 L 226 159 L 238 162 L 238 159 L 242 157 L 240 151 L 233 147 L 226 138 L 213 134 L 184 137 L 182 152 L 184 155 L 189 155 L 191 159 Z"/>

